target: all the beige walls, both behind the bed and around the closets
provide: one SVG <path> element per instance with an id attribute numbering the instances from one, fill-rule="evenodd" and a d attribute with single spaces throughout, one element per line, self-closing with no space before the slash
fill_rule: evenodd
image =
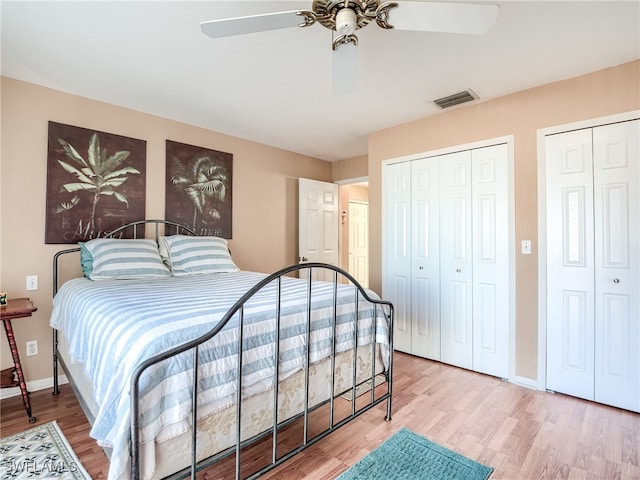
<path id="1" fill-rule="evenodd" d="M 241 268 L 273 271 L 296 259 L 298 177 L 324 181 L 369 177 L 370 285 L 381 291 L 381 164 L 384 160 L 514 135 L 516 244 L 533 240 L 533 255 L 516 257 L 516 375 L 537 377 L 536 131 L 640 108 L 640 62 L 595 72 L 459 108 L 369 137 L 368 157 L 330 164 L 205 129 L 59 91 L 2 78 L 0 157 L 0 290 L 30 296 L 38 311 L 15 322 L 27 380 L 51 376 L 51 258 L 44 244 L 47 122 L 91 128 L 147 141 L 147 217 L 164 216 L 166 139 L 234 155 L 233 239 Z M 283 195 L 284 192 L 284 195 Z M 25 291 L 25 276 L 40 289 Z M 11 366 L 2 348 L 0 368 Z"/>

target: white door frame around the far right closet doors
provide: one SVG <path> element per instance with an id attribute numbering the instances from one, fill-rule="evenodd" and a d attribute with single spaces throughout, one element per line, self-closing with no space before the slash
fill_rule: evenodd
<path id="1" fill-rule="evenodd" d="M 538 390 L 547 388 L 547 171 L 545 137 L 640 118 L 640 110 L 596 117 L 537 130 L 538 150 Z"/>

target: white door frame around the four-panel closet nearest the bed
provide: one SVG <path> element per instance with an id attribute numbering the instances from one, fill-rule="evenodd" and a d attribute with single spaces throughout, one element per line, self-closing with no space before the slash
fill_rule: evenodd
<path id="1" fill-rule="evenodd" d="M 505 135 L 503 137 L 489 138 L 485 140 L 479 140 L 477 142 L 465 143 L 461 145 L 454 145 L 451 147 L 440 148 L 437 150 L 429 150 L 420 153 L 413 153 L 411 155 L 405 155 L 402 157 L 390 158 L 382 161 L 382 198 L 384 199 L 385 189 L 385 168 L 387 165 L 400 162 L 408 162 L 411 160 L 419 160 L 426 157 L 436 157 L 439 155 L 445 155 L 449 153 L 456 153 L 464 150 L 474 150 L 477 148 L 490 147 L 493 145 L 503 144 L 507 145 L 507 169 L 508 169 L 508 202 L 509 202 L 509 380 L 513 383 L 523 384 L 529 386 L 531 383 L 528 379 L 516 376 L 516 222 L 515 222 L 515 154 L 514 154 L 514 135 Z M 386 209 L 382 205 L 382 225 L 387 223 Z M 385 236 L 382 236 L 382 267 L 387 263 L 387 249 L 385 245 Z M 384 288 L 384 282 L 383 282 Z M 384 294 L 384 292 L 383 292 Z"/>

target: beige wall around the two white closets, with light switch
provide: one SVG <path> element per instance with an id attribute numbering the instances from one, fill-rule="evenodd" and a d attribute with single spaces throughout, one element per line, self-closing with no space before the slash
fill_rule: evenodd
<path id="1" fill-rule="evenodd" d="M 514 135 L 516 375 L 537 378 L 537 130 L 640 108 L 640 61 L 458 108 L 369 136 L 370 282 L 382 285 L 381 164 L 384 160 Z M 517 249 L 519 252 L 519 249 Z"/>

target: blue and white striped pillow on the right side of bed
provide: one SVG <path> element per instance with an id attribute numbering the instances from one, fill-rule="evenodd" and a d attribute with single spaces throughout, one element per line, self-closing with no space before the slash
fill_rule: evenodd
<path id="1" fill-rule="evenodd" d="M 233 263 L 227 241 L 220 237 L 172 235 L 160 238 L 160 251 L 179 277 L 201 273 L 229 273 L 240 269 Z"/>

